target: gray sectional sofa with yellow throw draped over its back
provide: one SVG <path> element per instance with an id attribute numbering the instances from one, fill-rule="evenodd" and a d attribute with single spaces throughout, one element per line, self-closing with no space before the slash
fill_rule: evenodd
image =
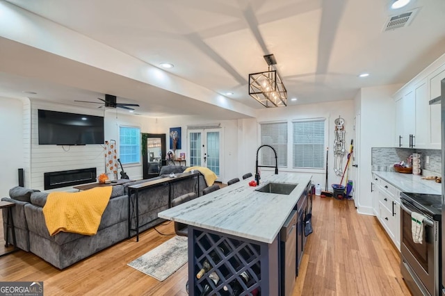
<path id="1" fill-rule="evenodd" d="M 47 192 L 15 187 L 10 190 L 10 197 L 4 197 L 2 200 L 15 202 L 16 204 L 12 211 L 17 247 L 40 256 L 56 268 L 63 269 L 106 247 L 129 238 L 129 235 L 134 236 L 135 231 L 129 233 L 129 205 L 134 204 L 134 196 L 129 197 L 128 186 L 162 178 L 164 178 L 166 184 L 168 178 L 165 178 L 165 175 L 170 174 L 170 172 L 178 174 L 183 170 L 184 167 L 180 166 L 175 168 L 166 167 L 165 170 L 161 170 L 163 176 L 113 186 L 110 201 L 105 208 L 99 229 L 94 236 L 65 232 L 49 236 L 42 213 L 47 200 Z M 189 178 L 171 183 L 169 186 L 163 186 L 164 181 L 161 181 L 159 186 L 141 190 L 139 193 L 138 216 L 139 225 L 142 227 L 139 231 L 144 231 L 163 222 L 164 220 L 158 217 L 158 213 L 167 209 L 171 200 L 175 197 L 196 191 L 199 192 L 199 195 L 202 195 L 202 190 L 207 187 L 207 183 L 202 174 L 199 174 L 198 178 L 199 188 L 197 188 L 197 179 Z M 134 213 L 133 208 L 131 208 L 131 211 Z M 131 220 L 131 229 L 135 228 L 135 220 Z M 6 236 L 5 221 L 6 211 L 3 209 L 4 236 Z M 11 236 L 9 241 L 12 242 Z"/>

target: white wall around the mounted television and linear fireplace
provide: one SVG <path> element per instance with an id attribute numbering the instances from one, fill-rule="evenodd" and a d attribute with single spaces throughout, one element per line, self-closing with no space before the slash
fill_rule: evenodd
<path id="1" fill-rule="evenodd" d="M 0 178 L 1 196 L 18 185 L 18 168 L 24 168 L 25 187 L 44 190 L 44 172 L 96 167 L 97 175 L 105 171 L 103 145 L 38 145 L 38 109 L 104 116 L 106 140 L 119 140 L 119 125 L 139 126 L 143 133 L 156 132 L 156 120 L 137 115 L 115 113 L 115 110 L 81 108 L 46 101 L 0 98 Z M 154 131 L 153 131 L 154 129 Z M 142 179 L 142 159 L 138 165 L 124 167 L 131 179 Z M 54 190 L 69 190 L 57 188 Z M 45 191 L 54 191 L 45 190 Z"/>

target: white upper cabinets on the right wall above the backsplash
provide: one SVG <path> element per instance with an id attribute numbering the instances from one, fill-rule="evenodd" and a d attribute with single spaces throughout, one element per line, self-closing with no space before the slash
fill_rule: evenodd
<path id="1" fill-rule="evenodd" d="M 445 55 L 426 67 L 394 94 L 396 101 L 396 147 L 441 149 L 440 81 L 445 78 Z"/>

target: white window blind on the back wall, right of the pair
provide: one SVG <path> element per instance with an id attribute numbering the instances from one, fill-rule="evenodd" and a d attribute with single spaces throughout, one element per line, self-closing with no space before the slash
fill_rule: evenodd
<path id="1" fill-rule="evenodd" d="M 293 122 L 293 167 L 323 169 L 325 120 Z"/>

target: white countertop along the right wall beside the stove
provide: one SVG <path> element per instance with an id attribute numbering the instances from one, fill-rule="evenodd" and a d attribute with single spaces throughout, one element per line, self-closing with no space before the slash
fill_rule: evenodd
<path id="1" fill-rule="evenodd" d="M 441 183 L 436 183 L 434 180 L 424 180 L 421 178 L 422 176 L 379 171 L 373 171 L 373 174 L 380 176 L 380 178 L 396 186 L 402 192 L 426 193 L 430 195 L 442 194 Z"/>

